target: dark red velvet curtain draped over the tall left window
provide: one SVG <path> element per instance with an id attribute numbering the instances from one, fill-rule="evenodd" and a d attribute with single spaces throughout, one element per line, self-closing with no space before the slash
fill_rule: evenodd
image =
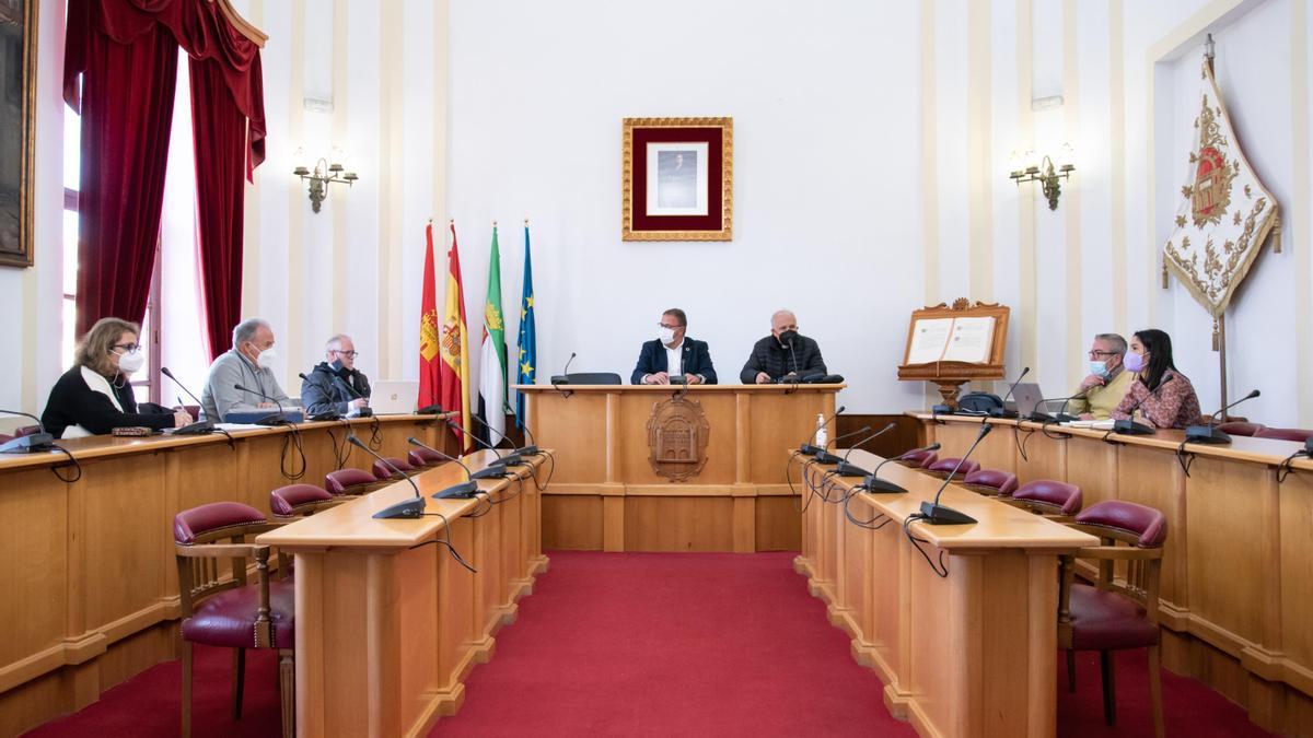
<path id="1" fill-rule="evenodd" d="M 83 116 L 77 332 L 146 311 L 179 46 L 192 56 L 206 332 L 217 356 L 239 319 L 242 179 L 264 160 L 265 122 L 260 47 L 211 0 L 68 0 L 64 100 Z"/>

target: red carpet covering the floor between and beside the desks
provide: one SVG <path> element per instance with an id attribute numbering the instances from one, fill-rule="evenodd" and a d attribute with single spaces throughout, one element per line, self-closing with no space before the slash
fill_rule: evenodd
<path id="1" fill-rule="evenodd" d="M 551 570 L 475 667 L 461 712 L 433 735 L 913 735 L 874 672 L 793 573 L 793 554 L 551 552 Z M 246 710 L 228 714 L 226 651 L 197 649 L 194 734 L 278 729 L 277 674 L 251 653 Z M 1079 688 L 1058 662 L 1058 734 L 1152 735 L 1144 655 L 1117 657 L 1117 727 L 1103 724 L 1098 657 Z M 159 664 L 32 735 L 177 735 L 177 662 Z M 1163 672 L 1169 735 L 1264 735 L 1239 706 Z"/>

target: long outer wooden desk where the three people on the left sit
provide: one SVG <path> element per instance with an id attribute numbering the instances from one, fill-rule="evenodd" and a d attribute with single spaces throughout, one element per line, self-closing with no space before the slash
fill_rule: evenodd
<path id="1" fill-rule="evenodd" d="M 372 440 L 373 419 L 348 423 Z M 343 446 L 341 423 L 298 425 L 303 482 L 373 458 Z M 407 436 L 454 446 L 435 416 L 382 416 L 378 448 L 404 456 Z M 58 453 L 0 456 L 0 735 L 12 735 L 96 701 L 101 692 L 176 658 L 177 567 L 173 516 L 200 504 L 242 502 L 268 515 L 269 492 L 291 482 L 280 471 L 289 431 L 147 439 L 97 436 L 59 441 L 81 464 L 74 483 L 51 469 Z M 331 433 L 331 435 L 330 435 Z M 337 452 L 341 453 L 341 452 Z M 297 460 L 299 465 L 299 458 Z M 68 474 L 71 469 L 60 473 Z"/>

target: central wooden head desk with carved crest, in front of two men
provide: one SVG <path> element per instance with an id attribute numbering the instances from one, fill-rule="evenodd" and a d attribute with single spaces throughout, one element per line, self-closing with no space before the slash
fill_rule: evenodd
<path id="1" fill-rule="evenodd" d="M 557 449 L 542 502 L 548 548 L 608 552 L 798 549 L 796 498 L 780 448 L 834 414 L 843 385 L 695 385 L 705 412 L 706 465 L 672 482 L 649 462 L 655 403 L 680 387 L 647 385 L 516 387 L 529 397 L 540 444 Z M 829 425 L 834 437 L 834 423 Z"/>

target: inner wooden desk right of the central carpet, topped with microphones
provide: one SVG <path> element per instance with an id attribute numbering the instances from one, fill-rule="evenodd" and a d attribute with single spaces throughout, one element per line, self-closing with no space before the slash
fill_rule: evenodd
<path id="1" fill-rule="evenodd" d="M 882 460 L 857 450 L 850 461 L 872 470 Z M 806 471 L 818 479 L 827 469 Z M 889 712 L 922 735 L 1054 735 L 1058 554 L 1098 538 L 949 486 L 941 503 L 978 523 L 910 528 L 944 562 L 941 578 L 902 528 L 941 482 L 895 464 L 880 477 L 907 494 L 859 492 L 850 511 L 889 523 L 857 527 L 843 504 L 813 496 L 794 566 L 827 603 L 830 622 L 852 637 L 853 658 L 885 682 Z M 835 486 L 847 491 L 848 482 L 857 479 Z"/>

